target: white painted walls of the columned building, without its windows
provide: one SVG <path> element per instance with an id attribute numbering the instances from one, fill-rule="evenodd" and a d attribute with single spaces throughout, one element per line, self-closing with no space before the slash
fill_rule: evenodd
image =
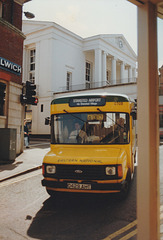
<path id="1" fill-rule="evenodd" d="M 101 51 L 101 81 L 104 75 L 102 71 L 105 69 L 102 66 L 104 51 L 107 56 L 107 70 L 112 70 L 111 57 L 115 56 L 117 59 L 117 80 L 120 80 L 121 76 L 120 61 L 131 65 L 132 68 L 136 67 L 136 55 L 123 35 L 109 34 L 83 39 L 55 23 L 37 21 L 24 21 L 23 32 L 26 35 L 23 54 L 24 82 L 29 79 L 29 50 L 36 49 L 35 83 L 39 102 L 37 106 L 32 106 L 32 134 L 50 133 L 49 126 L 44 125 L 45 117 L 50 116 L 53 93 L 60 93 L 66 89 L 67 71 L 72 73 L 73 88 L 80 90 L 80 86 L 85 84 L 85 62 L 89 61 L 92 64 L 92 81 L 100 81 L 96 77 L 98 72 L 95 69 L 96 49 Z M 123 49 L 119 48 L 119 37 L 123 40 Z M 124 69 L 124 77 L 128 78 L 126 69 Z M 103 91 L 103 89 L 93 91 Z M 108 88 L 107 91 L 112 92 L 113 89 Z M 116 88 L 116 92 L 136 96 L 132 84 L 126 89 L 125 85 Z M 43 112 L 41 112 L 41 105 L 43 105 Z"/>

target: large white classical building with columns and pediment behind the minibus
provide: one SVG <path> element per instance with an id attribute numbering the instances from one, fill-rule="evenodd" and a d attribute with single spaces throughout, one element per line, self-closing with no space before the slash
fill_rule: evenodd
<path id="1" fill-rule="evenodd" d="M 37 106 L 28 106 L 32 134 L 49 134 L 44 125 L 54 94 L 86 90 L 121 92 L 136 98 L 137 56 L 122 34 L 89 38 L 53 22 L 24 21 L 23 81 L 37 85 Z M 114 90 L 113 90 L 114 89 Z"/>

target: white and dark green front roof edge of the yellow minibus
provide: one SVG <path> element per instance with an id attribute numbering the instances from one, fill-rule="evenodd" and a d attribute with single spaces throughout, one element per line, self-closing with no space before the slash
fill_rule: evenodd
<path id="1" fill-rule="evenodd" d="M 56 97 L 52 100 L 51 104 L 62 104 L 69 103 L 69 100 L 72 98 L 106 98 L 107 102 L 131 102 L 131 99 L 125 94 L 118 93 L 77 93 L 77 94 L 68 94 L 61 97 Z"/>

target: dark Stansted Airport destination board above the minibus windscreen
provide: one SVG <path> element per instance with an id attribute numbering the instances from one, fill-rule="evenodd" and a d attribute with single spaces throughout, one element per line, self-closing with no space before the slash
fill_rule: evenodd
<path id="1" fill-rule="evenodd" d="M 104 106 L 105 104 L 106 99 L 103 97 L 71 98 L 69 102 L 70 107 Z"/>

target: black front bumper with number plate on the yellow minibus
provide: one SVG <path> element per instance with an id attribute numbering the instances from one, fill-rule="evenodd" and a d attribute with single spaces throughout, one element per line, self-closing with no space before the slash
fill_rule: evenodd
<path id="1" fill-rule="evenodd" d="M 75 182 L 75 181 L 54 181 L 42 180 L 42 186 L 53 191 L 60 192 L 87 192 L 87 193 L 116 193 L 123 188 L 125 181 L 119 183 L 98 183 L 98 182 Z"/>

